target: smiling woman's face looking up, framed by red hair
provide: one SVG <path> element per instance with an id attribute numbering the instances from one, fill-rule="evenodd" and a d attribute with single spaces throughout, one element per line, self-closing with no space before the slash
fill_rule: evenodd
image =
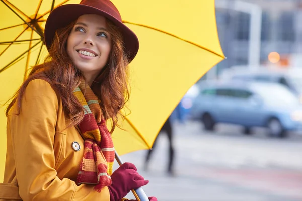
<path id="1" fill-rule="evenodd" d="M 106 18 L 86 14 L 78 18 L 67 40 L 67 53 L 87 81 L 93 81 L 107 64 L 111 35 Z"/>

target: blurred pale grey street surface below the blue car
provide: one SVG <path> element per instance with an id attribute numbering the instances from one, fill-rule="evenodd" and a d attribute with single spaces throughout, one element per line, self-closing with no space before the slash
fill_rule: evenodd
<path id="1" fill-rule="evenodd" d="M 256 128 L 243 136 L 238 126 L 206 132 L 198 123 L 175 123 L 175 176 L 166 174 L 168 139 L 160 135 L 148 171 L 146 151 L 122 156 L 133 162 L 149 184 L 149 196 L 167 201 L 302 200 L 302 138 L 268 139 Z M 134 198 L 131 193 L 127 198 Z"/>

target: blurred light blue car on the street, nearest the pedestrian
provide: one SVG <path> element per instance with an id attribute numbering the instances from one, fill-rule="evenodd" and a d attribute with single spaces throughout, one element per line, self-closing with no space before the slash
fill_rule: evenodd
<path id="1" fill-rule="evenodd" d="M 190 116 L 213 130 L 217 123 L 266 127 L 270 136 L 286 137 L 287 131 L 302 130 L 302 106 L 286 87 L 264 82 L 203 82 Z"/>

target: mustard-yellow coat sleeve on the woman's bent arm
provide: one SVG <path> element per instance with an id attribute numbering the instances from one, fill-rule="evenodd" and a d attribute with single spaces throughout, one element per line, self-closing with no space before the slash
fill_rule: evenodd
<path id="1" fill-rule="evenodd" d="M 94 185 L 63 178 L 54 169 L 54 134 L 58 98 L 50 84 L 33 80 L 26 87 L 20 115 L 10 112 L 19 194 L 23 200 L 110 200 L 107 187 L 96 192 Z M 14 108 L 11 109 L 16 111 Z"/>

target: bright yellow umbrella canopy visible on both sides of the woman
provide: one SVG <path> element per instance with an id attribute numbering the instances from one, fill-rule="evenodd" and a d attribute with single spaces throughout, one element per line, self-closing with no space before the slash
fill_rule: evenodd
<path id="1" fill-rule="evenodd" d="M 21 85 L 25 71 L 43 62 L 45 21 L 52 8 L 74 0 L 1 0 L 0 104 Z M 124 23 L 138 36 L 140 50 L 130 63 L 129 114 L 113 133 L 119 154 L 148 149 L 186 91 L 224 59 L 214 0 L 114 0 Z M 7 20 L 6 20 L 7 19 Z M 30 50 L 30 51 L 28 51 Z M 0 161 L 5 160 L 5 107 L 0 108 Z M 0 165 L 0 177 L 4 163 Z"/>

